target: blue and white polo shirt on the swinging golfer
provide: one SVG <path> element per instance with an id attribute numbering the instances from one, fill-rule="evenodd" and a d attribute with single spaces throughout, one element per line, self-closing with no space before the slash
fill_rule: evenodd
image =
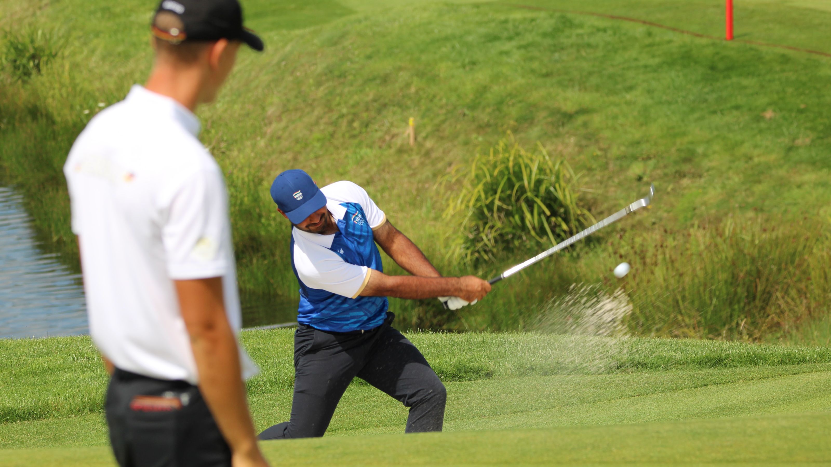
<path id="1" fill-rule="evenodd" d="M 292 229 L 292 268 L 300 284 L 297 322 L 331 332 L 381 326 L 386 297 L 360 297 L 372 270 L 383 272 L 372 230 L 386 215 L 366 190 L 350 181 L 324 186 L 337 233 L 310 234 Z"/>

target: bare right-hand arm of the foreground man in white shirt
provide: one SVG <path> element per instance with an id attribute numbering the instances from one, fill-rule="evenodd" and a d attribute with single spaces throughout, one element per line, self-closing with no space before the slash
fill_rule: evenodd
<path id="1" fill-rule="evenodd" d="M 257 450 L 245 401 L 239 349 L 225 314 L 222 278 L 175 284 L 199 374 L 199 391 L 231 450 Z"/>

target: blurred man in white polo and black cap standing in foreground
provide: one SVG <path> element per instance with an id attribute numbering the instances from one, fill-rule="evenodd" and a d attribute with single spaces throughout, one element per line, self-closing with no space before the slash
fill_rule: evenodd
<path id="1" fill-rule="evenodd" d="M 111 372 L 106 420 L 126 466 L 263 466 L 238 346 L 228 194 L 199 143 L 241 44 L 237 0 L 165 0 L 145 87 L 93 118 L 66 161 L 90 333 Z"/>

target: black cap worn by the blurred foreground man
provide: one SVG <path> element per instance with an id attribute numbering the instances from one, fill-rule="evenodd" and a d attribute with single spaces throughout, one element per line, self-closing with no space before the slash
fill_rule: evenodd
<path id="1" fill-rule="evenodd" d="M 243 27 L 243 8 L 237 0 L 162 0 L 151 29 L 155 37 L 175 44 L 229 39 L 263 50 L 263 41 Z"/>

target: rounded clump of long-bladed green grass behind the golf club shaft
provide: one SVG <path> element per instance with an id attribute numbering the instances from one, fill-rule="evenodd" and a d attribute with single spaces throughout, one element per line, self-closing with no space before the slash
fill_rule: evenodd
<path id="1" fill-rule="evenodd" d="M 460 185 L 445 210 L 445 219 L 460 219 L 452 251 L 482 263 L 570 237 L 593 221 L 573 189 L 577 179 L 565 160 L 553 160 L 542 145 L 525 150 L 509 133 L 450 176 Z"/>

